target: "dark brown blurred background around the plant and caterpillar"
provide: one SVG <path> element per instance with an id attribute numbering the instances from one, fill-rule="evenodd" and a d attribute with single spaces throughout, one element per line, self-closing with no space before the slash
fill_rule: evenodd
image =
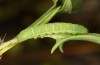
<path id="1" fill-rule="evenodd" d="M 53 5 L 51 0 L 0 0 L 0 36 L 5 41 L 15 37 Z M 92 33 L 100 33 L 100 0 L 83 0 L 80 11 L 57 14 L 51 22 L 81 24 Z M 86 41 L 69 41 L 64 53 L 50 54 L 55 40 L 31 39 L 7 51 L 0 65 L 100 65 L 100 45 Z"/>

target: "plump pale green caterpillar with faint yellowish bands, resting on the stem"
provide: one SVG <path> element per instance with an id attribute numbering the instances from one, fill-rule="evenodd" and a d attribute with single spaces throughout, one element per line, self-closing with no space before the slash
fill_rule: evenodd
<path id="1" fill-rule="evenodd" d="M 72 23 L 48 23 L 38 25 L 34 28 L 30 27 L 19 33 L 17 39 L 22 42 L 31 38 L 43 38 L 45 35 L 51 34 L 86 34 L 88 30 L 78 24 Z"/>

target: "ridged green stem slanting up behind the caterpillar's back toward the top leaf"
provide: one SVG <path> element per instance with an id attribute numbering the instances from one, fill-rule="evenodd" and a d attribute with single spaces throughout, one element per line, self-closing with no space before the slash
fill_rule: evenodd
<path id="1" fill-rule="evenodd" d="M 31 24 L 29 27 L 48 23 L 52 19 L 52 17 L 58 13 L 60 8 L 61 8 L 60 6 L 56 8 L 51 7 L 46 13 L 44 13 L 39 19 L 33 22 L 33 24 Z"/>

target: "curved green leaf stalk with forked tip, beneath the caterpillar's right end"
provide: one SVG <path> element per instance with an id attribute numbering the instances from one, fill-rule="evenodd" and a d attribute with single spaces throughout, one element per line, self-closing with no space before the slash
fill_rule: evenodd
<path id="1" fill-rule="evenodd" d="M 100 34 L 88 33 L 88 34 L 84 34 L 84 35 L 66 36 L 65 38 L 62 38 L 62 39 L 56 41 L 56 44 L 53 46 L 53 48 L 51 50 L 51 53 L 53 53 L 58 47 L 59 47 L 60 51 L 63 52 L 63 44 L 64 44 L 64 42 L 69 41 L 69 40 L 83 40 L 83 41 L 90 41 L 90 42 L 100 44 Z"/>

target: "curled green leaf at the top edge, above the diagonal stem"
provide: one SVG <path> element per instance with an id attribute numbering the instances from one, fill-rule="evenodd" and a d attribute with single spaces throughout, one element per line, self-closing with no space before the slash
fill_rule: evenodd
<path id="1" fill-rule="evenodd" d="M 80 10 L 83 0 L 53 0 L 54 6 L 61 6 L 60 12 L 76 13 Z"/>

